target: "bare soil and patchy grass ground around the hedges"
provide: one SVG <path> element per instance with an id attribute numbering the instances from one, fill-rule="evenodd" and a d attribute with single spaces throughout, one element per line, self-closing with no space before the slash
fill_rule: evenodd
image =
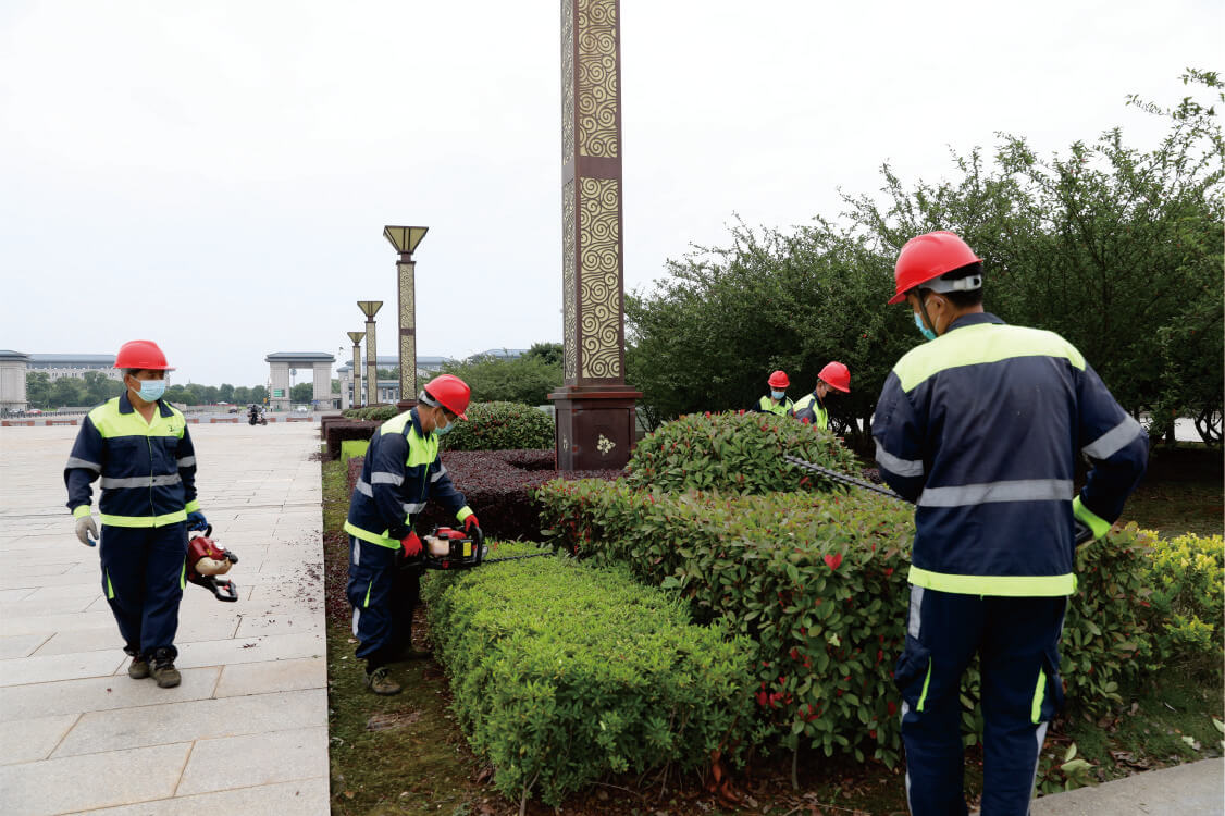
<path id="1" fill-rule="evenodd" d="M 1220 534 L 1223 529 L 1221 457 L 1185 448 L 1155 451 L 1153 464 L 1128 504 L 1125 521 L 1165 535 L 1186 532 Z M 332 768 L 332 812 L 446 814 L 488 816 L 518 812 L 490 784 L 491 768 L 468 750 L 450 713 L 451 692 L 434 660 L 393 667 L 405 686 L 394 697 L 363 689 L 363 669 L 353 657 L 349 609 L 344 600 L 348 543 L 341 532 L 348 508 L 344 468 L 323 463 L 323 528 L 328 598 L 328 690 Z M 428 626 L 418 610 L 418 647 L 429 646 Z M 1225 719 L 1225 689 L 1214 678 L 1165 676 L 1143 687 L 1125 689 L 1125 703 L 1101 718 L 1057 719 L 1047 735 L 1040 779 L 1062 785 L 1058 763 L 1074 742 L 1078 756 L 1093 763 L 1091 779 L 1104 782 L 1132 773 L 1212 756 L 1221 756 L 1213 718 Z M 859 765 L 801 751 L 800 787 L 791 788 L 790 752 L 753 756 L 735 773 L 739 804 L 708 793 L 696 777 L 673 780 L 668 789 L 654 779 L 609 779 L 572 796 L 556 812 L 588 816 L 753 812 L 778 816 L 904 814 L 900 772 L 877 763 Z M 981 754 L 967 751 L 967 790 L 981 789 Z M 539 803 L 529 814 L 555 812 Z"/>

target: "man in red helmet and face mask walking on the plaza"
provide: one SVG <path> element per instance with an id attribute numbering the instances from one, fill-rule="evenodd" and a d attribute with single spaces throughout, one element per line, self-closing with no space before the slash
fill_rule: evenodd
<path id="1" fill-rule="evenodd" d="M 102 589 L 131 655 L 127 676 L 152 673 L 157 685 L 179 685 L 179 602 L 186 576 L 187 529 L 208 522 L 196 501 L 196 452 L 187 423 L 162 395 L 169 368 L 152 341 L 124 343 L 115 357 L 127 391 L 104 402 L 81 423 L 64 467 L 76 535 L 100 539 Z M 98 518 L 91 516 L 91 484 L 100 477 Z M 152 664 L 152 671 L 151 671 Z"/>

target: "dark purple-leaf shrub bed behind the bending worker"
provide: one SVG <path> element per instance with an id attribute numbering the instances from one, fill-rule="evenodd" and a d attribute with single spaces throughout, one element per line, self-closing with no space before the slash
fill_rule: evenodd
<path id="1" fill-rule="evenodd" d="M 361 475 L 364 457 L 349 459 L 349 493 Z M 489 538 L 538 542 L 540 510 L 535 489 L 554 479 L 606 479 L 622 475 L 621 470 L 554 469 L 552 451 L 448 451 L 442 453 L 452 484 L 468 500 L 468 506 L 480 519 Z M 418 517 L 417 532 L 428 533 L 435 526 L 453 527 L 454 516 L 430 502 Z"/>

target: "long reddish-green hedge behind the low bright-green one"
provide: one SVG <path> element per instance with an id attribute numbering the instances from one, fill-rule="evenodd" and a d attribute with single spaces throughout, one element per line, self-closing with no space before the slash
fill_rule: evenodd
<path id="1" fill-rule="evenodd" d="M 911 507 L 869 493 L 729 497 L 608 482 L 551 482 L 538 497 L 552 543 L 680 587 L 701 618 L 756 642 L 756 739 L 899 763 L 892 670 L 904 646 Z M 1120 685 L 1156 657 L 1144 606 L 1150 544 L 1132 526 L 1079 550 L 1063 673 L 1069 697 L 1090 711 L 1118 701 Z M 973 669 L 965 700 L 973 742 Z"/>

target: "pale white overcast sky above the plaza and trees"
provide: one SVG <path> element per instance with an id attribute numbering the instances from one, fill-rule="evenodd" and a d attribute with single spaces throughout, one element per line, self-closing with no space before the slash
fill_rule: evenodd
<path id="1" fill-rule="evenodd" d="M 1220 0 L 622 0 L 625 278 L 739 213 L 949 174 L 996 131 L 1066 148 L 1160 127 L 1221 69 Z M 0 348 L 158 341 L 179 381 L 349 353 L 388 223 L 424 224 L 419 353 L 561 339 L 556 0 L 0 1 Z M 882 299 L 887 293 L 882 293 Z M 883 300 L 882 300 L 883 304 Z"/>

